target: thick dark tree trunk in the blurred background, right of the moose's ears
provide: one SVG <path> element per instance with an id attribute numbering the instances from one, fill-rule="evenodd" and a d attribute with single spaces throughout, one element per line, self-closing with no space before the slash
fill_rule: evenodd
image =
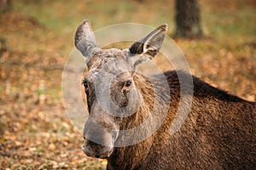
<path id="1" fill-rule="evenodd" d="M 176 36 L 201 37 L 201 14 L 197 0 L 176 0 Z"/>

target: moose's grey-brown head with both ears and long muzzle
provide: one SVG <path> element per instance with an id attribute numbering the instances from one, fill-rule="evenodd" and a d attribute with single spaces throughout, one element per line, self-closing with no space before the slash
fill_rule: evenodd
<path id="1" fill-rule="evenodd" d="M 130 48 L 101 49 L 96 46 L 90 22 L 84 20 L 79 25 L 74 42 L 88 66 L 83 81 L 89 110 L 83 146 L 87 156 L 110 156 L 119 129 L 127 128 L 127 117 L 139 110 L 143 97 L 137 89 L 137 65 L 159 52 L 166 29 L 166 25 L 159 26 Z"/>

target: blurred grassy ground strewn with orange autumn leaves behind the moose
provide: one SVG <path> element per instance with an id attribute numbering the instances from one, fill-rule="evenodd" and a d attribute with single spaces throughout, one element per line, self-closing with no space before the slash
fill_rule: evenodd
<path id="1" fill-rule="evenodd" d="M 255 101 L 255 0 L 199 3 L 204 37 L 174 39 L 192 73 Z M 82 134 L 61 100 L 61 74 L 74 48 L 74 31 L 84 19 L 95 30 L 124 22 L 167 23 L 172 37 L 175 2 L 13 0 L 1 10 L 0 169 L 105 168 L 106 161 L 84 156 Z"/>

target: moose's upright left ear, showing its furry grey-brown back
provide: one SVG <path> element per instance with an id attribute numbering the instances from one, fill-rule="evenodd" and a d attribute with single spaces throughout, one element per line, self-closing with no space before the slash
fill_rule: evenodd
<path id="1" fill-rule="evenodd" d="M 76 48 L 78 48 L 79 51 L 84 55 L 86 63 L 99 49 L 96 47 L 96 38 L 88 20 L 83 20 L 83 22 L 77 28 L 74 43 Z"/>

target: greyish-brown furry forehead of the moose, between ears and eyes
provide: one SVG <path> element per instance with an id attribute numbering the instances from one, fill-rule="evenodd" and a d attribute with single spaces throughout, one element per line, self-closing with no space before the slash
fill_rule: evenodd
<path id="1" fill-rule="evenodd" d="M 125 72 L 131 72 L 131 61 L 126 50 L 117 48 L 97 51 L 88 63 L 86 77 L 109 77 Z"/>

